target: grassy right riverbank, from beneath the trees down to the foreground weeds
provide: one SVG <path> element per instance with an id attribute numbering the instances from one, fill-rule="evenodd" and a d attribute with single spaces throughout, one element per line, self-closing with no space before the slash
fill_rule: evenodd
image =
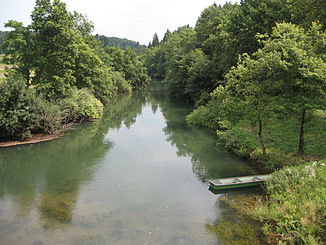
<path id="1" fill-rule="evenodd" d="M 211 110 L 196 110 L 188 122 L 214 128 Z M 264 125 L 266 155 L 258 129 L 242 120 L 217 130 L 219 144 L 241 157 L 254 160 L 269 172 L 267 195 L 249 213 L 265 223 L 271 244 L 324 244 L 326 227 L 326 112 L 310 111 L 305 124 L 304 156 L 296 155 L 299 118 L 270 120 Z"/>

